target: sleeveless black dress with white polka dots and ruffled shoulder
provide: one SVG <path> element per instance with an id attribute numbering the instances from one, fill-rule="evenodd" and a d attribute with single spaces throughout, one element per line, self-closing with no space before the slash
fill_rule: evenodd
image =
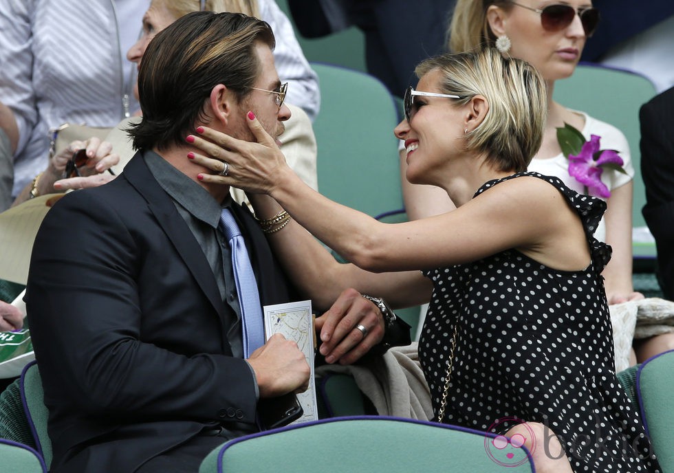
<path id="1" fill-rule="evenodd" d="M 658 471 L 638 412 L 613 371 L 600 275 L 611 250 L 592 236 L 605 203 L 538 173 L 489 181 L 475 196 L 520 176 L 549 182 L 578 211 L 592 262 L 564 272 L 508 250 L 425 272 L 434 290 L 419 355 L 434 412 L 458 324 L 444 422 L 496 433 L 539 422 L 558 435 L 574 472 Z"/>

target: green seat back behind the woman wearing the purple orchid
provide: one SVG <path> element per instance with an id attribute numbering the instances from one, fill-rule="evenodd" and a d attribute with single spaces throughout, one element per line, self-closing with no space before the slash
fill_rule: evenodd
<path id="1" fill-rule="evenodd" d="M 641 209 L 646 191 L 640 170 L 641 131 L 639 109 L 655 96 L 653 83 L 644 76 L 600 65 L 581 64 L 576 72 L 554 86 L 554 99 L 574 110 L 582 110 L 598 120 L 616 126 L 629 142 L 634 166 L 632 225 L 646 225 Z M 655 245 L 634 245 L 635 256 L 653 256 Z"/>

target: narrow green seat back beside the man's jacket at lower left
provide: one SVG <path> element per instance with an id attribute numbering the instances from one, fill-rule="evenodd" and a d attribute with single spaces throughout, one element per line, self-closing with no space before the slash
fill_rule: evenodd
<path id="1" fill-rule="evenodd" d="M 42 454 L 48 468 L 52 464 L 52 441 L 47 434 L 49 410 L 45 406 L 45 393 L 36 363 L 29 364 L 21 375 L 21 398 L 37 450 Z"/>

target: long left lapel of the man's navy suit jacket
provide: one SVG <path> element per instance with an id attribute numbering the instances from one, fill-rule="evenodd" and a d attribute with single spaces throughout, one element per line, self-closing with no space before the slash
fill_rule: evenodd
<path id="1" fill-rule="evenodd" d="M 180 254 L 218 315 L 223 318 L 224 303 L 204 252 L 178 213 L 171 197 L 156 181 L 140 153 L 136 153 L 129 164 L 124 167 L 123 175 L 147 201 L 149 209 L 157 217 L 157 223 L 166 232 L 168 239 L 175 246 L 175 250 Z"/>

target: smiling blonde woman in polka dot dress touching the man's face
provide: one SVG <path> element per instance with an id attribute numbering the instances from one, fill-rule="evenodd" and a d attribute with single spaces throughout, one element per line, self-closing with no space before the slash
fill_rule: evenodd
<path id="1" fill-rule="evenodd" d="M 279 221 L 279 205 L 292 214 L 268 238 L 317 306 L 349 286 L 393 306 L 431 300 L 419 351 L 436 420 L 524 442 L 538 472 L 657 471 L 612 368 L 600 275 L 610 250 L 592 236 L 605 203 L 525 172 L 545 126 L 541 76 L 493 48 L 428 59 L 417 75 L 395 134 L 407 179 L 444 188 L 452 212 L 391 225 L 329 201 L 251 116 L 258 143 L 208 128 L 195 137 L 228 162 L 228 176 L 217 159 L 193 162 L 212 170 L 206 185 L 249 190 L 259 218 Z M 336 263 L 312 234 L 352 264 Z M 370 312 L 327 314 L 317 325 L 328 362 L 382 340 L 384 322 Z"/>

